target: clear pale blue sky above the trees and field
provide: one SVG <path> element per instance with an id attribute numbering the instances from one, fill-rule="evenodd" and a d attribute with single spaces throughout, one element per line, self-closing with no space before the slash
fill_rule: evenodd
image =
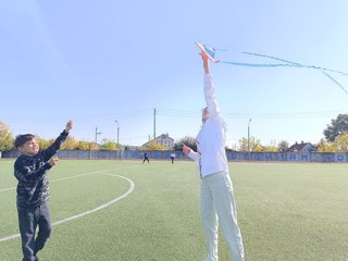
<path id="1" fill-rule="evenodd" d="M 222 61 L 274 63 L 254 52 L 348 73 L 346 0 L 0 2 L 0 121 L 14 135 L 141 145 L 200 128 L 202 64 L 195 41 Z M 227 146 L 318 142 L 348 95 L 318 70 L 211 65 Z M 331 74 L 348 89 L 348 77 Z"/>

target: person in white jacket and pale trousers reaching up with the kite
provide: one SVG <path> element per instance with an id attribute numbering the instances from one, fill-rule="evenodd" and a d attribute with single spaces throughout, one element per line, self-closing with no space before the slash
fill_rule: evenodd
<path id="1" fill-rule="evenodd" d="M 201 219 L 208 247 L 206 261 L 219 260 L 219 224 L 229 247 L 231 260 L 244 261 L 243 239 L 237 223 L 236 203 L 225 151 L 226 123 L 215 99 L 215 86 L 208 55 L 202 52 L 201 57 L 207 107 L 202 109 L 202 126 L 196 138 L 197 151 L 184 145 L 183 153 L 196 161 L 200 173 Z"/>

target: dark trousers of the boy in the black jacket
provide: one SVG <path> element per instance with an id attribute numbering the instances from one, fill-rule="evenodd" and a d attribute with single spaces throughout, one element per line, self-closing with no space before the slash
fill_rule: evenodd
<path id="1" fill-rule="evenodd" d="M 52 225 L 47 202 L 39 207 L 17 208 L 20 232 L 22 237 L 22 261 L 38 261 L 36 257 L 51 235 Z M 36 228 L 39 228 L 35 238 Z"/>

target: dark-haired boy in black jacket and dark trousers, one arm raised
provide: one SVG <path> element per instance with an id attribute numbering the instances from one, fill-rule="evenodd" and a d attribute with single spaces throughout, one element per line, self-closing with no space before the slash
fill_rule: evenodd
<path id="1" fill-rule="evenodd" d="M 67 122 L 55 141 L 41 151 L 34 135 L 18 135 L 15 138 L 14 146 L 22 153 L 14 163 L 14 176 L 18 181 L 17 212 L 23 261 L 38 261 L 37 252 L 50 237 L 52 225 L 47 204 L 50 198 L 47 173 L 58 163 L 54 154 L 72 127 L 73 122 Z M 39 231 L 35 238 L 37 227 Z"/>

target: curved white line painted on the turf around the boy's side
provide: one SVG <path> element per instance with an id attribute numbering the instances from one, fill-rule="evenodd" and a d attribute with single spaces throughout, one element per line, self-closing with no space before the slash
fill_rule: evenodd
<path id="1" fill-rule="evenodd" d="M 70 216 L 70 217 L 66 217 L 66 219 L 63 219 L 63 220 L 60 220 L 60 221 L 57 221 L 54 223 L 52 223 L 53 226 L 57 226 L 57 225 L 60 225 L 60 224 L 63 224 L 63 223 L 66 223 L 66 222 L 70 222 L 70 221 L 73 221 L 73 220 L 76 220 L 76 219 L 79 219 L 79 217 L 83 217 L 85 215 L 88 215 L 88 214 L 91 214 L 91 213 L 95 213 L 99 210 L 102 210 L 102 209 L 105 209 L 108 207 L 110 207 L 111 204 L 120 201 L 121 199 L 127 197 L 130 192 L 134 191 L 134 188 L 135 188 L 135 184 L 132 179 L 127 178 L 127 177 L 124 177 L 124 176 L 121 176 L 121 175 L 115 175 L 115 174 L 111 174 L 111 173 L 104 173 L 107 171 L 101 171 L 101 172 L 92 172 L 92 173 L 87 173 L 87 174 L 82 174 L 82 175 L 77 175 L 77 176 L 73 176 L 73 177 L 80 177 L 80 176 L 86 176 L 86 175 L 90 175 L 90 174 L 97 174 L 97 173 L 101 173 L 101 174 L 105 174 L 105 175 L 110 175 L 110 176 L 115 176 L 115 177 L 120 177 L 120 178 L 123 178 L 125 181 L 127 181 L 129 184 L 130 184 L 130 187 L 129 189 L 119 196 L 117 198 L 114 198 L 112 200 L 110 200 L 109 202 L 107 203 L 103 203 L 95 209 L 91 209 L 91 210 L 87 210 L 83 213 L 79 213 L 79 214 L 76 214 L 76 215 L 73 215 L 73 216 Z M 66 177 L 66 178 L 60 178 L 60 179 L 55 179 L 55 181 L 65 181 L 65 179 L 69 179 L 69 178 L 73 178 L 73 177 Z M 21 234 L 13 234 L 13 235 L 10 235 L 10 236 L 5 236 L 5 237 L 0 237 L 0 243 L 2 241 L 8 241 L 8 240 L 11 240 L 11 239 L 14 239 L 14 238 L 17 238 L 17 237 L 21 237 Z"/>

